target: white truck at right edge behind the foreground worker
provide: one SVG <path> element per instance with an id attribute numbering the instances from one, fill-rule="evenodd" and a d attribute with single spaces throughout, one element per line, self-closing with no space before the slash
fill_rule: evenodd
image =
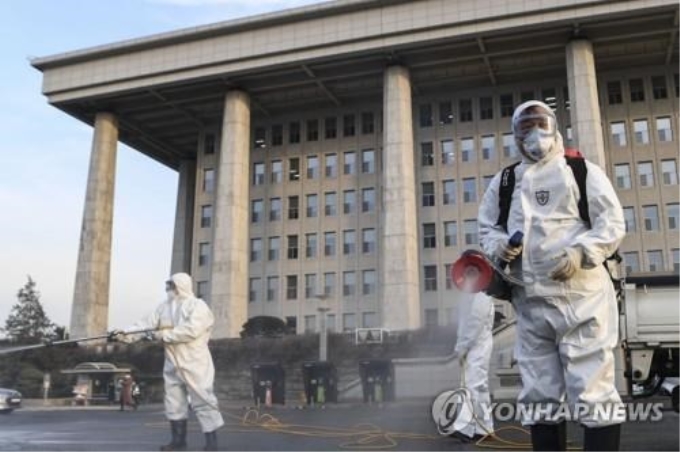
<path id="1" fill-rule="evenodd" d="M 678 411 L 680 276 L 626 278 L 620 300 L 624 376 L 633 398 L 669 395 Z"/>

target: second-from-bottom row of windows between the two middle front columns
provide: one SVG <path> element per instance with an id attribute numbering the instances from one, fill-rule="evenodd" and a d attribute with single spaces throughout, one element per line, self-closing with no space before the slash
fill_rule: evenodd
<path id="1" fill-rule="evenodd" d="M 318 285 L 321 277 L 322 286 Z M 285 281 L 285 299 L 297 300 L 298 296 L 298 275 L 287 275 Z M 357 281 L 361 278 L 361 281 Z M 248 301 L 279 301 L 280 277 L 267 276 L 266 278 L 250 278 L 248 283 Z M 334 298 L 336 294 L 337 274 L 327 272 L 322 275 L 308 273 L 304 275 L 304 299 L 325 299 Z M 355 295 L 371 296 L 377 293 L 378 281 L 374 269 L 357 271 L 345 271 L 341 273 L 341 284 L 343 297 L 353 297 Z M 360 283 L 360 286 L 358 284 Z M 263 286 L 264 284 L 264 286 Z M 319 290 L 322 290 L 319 292 Z"/>

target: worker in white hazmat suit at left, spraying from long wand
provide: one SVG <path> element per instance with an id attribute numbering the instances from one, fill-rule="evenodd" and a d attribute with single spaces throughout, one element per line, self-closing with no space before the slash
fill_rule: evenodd
<path id="1" fill-rule="evenodd" d="M 186 450 L 189 400 L 205 434 L 205 450 L 217 450 L 217 429 L 224 425 L 213 393 L 215 368 L 208 348 L 214 318 L 208 305 L 196 298 L 191 276 L 172 275 L 166 282 L 167 300 L 146 319 L 125 331 L 158 329 L 155 339 L 165 346 L 165 414 L 170 421 L 172 440 L 160 450 Z M 133 342 L 141 335 L 114 330 L 113 341 Z"/>

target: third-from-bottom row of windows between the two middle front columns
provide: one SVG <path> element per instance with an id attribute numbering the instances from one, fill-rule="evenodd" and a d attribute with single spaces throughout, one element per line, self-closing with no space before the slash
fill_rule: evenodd
<path id="1" fill-rule="evenodd" d="M 318 255 L 319 234 L 311 232 L 304 236 L 304 252 L 306 258 L 315 258 Z M 335 231 L 323 233 L 323 255 L 333 257 L 337 255 L 337 236 Z M 298 259 L 300 257 L 300 240 L 297 234 L 286 237 L 286 257 L 288 259 Z M 376 251 L 376 231 L 374 228 L 361 230 L 361 253 L 373 254 Z M 281 258 L 281 237 L 274 236 L 267 238 L 267 260 L 278 261 Z M 200 246 L 199 246 L 200 249 Z M 209 253 L 209 246 L 206 243 L 206 253 Z M 348 229 L 342 231 L 342 254 L 349 256 L 357 253 L 357 231 Z M 209 257 L 206 256 L 206 262 Z M 250 262 L 261 262 L 264 260 L 264 239 L 256 237 L 250 239 Z M 200 258 L 199 258 L 200 262 Z"/>

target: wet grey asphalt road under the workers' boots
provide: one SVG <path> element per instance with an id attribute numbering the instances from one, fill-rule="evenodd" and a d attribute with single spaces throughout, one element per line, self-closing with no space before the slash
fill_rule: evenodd
<path id="1" fill-rule="evenodd" d="M 438 435 L 430 403 L 410 400 L 384 407 L 346 403 L 325 409 L 279 407 L 259 412 L 231 405 L 223 411 L 227 425 L 219 430 L 220 450 L 509 449 L 510 443 L 489 441 L 486 448 Z M 519 424 L 496 423 L 501 438 L 530 450 L 528 435 L 513 427 Z M 621 448 L 679 450 L 678 430 L 678 415 L 664 410 L 660 421 L 625 424 Z M 568 435 L 570 447 L 580 448 L 581 428 L 570 424 Z M 168 439 L 161 405 L 126 412 L 117 407 L 38 406 L 0 415 L 0 450 L 146 451 L 158 450 Z M 195 419 L 189 422 L 188 441 L 190 450 L 203 448 Z"/>

